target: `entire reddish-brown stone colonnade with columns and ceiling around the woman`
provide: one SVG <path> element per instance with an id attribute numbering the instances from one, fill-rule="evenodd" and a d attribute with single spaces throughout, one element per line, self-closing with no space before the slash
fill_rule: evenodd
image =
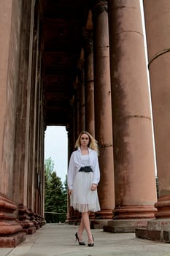
<path id="1" fill-rule="evenodd" d="M 69 154 L 82 130 L 98 140 L 93 221 L 160 240 L 169 230 L 169 9 L 144 0 L 154 141 L 139 1 L 0 1 L 0 246 L 45 224 L 47 125 L 66 126 Z"/>

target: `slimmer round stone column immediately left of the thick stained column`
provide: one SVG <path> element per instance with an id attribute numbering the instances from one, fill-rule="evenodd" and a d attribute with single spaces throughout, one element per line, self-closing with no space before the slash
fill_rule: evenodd
<path id="1" fill-rule="evenodd" d="M 101 181 L 98 196 L 101 219 L 111 219 L 115 208 L 112 145 L 112 105 L 109 69 L 109 30 L 106 1 L 93 6 L 95 135 L 99 146 Z"/>

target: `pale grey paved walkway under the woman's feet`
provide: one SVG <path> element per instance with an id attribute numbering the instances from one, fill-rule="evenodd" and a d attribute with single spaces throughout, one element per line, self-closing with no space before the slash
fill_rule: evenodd
<path id="1" fill-rule="evenodd" d="M 75 242 L 75 225 L 45 225 L 15 248 L 0 249 L 0 256 L 170 256 L 170 244 L 135 238 L 134 233 L 93 231 L 94 246 Z M 86 241 L 86 235 L 84 234 Z"/>

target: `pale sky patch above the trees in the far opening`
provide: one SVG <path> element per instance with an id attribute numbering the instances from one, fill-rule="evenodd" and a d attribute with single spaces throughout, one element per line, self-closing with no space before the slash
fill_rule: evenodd
<path id="1" fill-rule="evenodd" d="M 54 171 L 61 181 L 66 180 L 68 169 L 68 139 L 66 127 L 47 127 L 45 131 L 45 159 L 51 157 Z"/>

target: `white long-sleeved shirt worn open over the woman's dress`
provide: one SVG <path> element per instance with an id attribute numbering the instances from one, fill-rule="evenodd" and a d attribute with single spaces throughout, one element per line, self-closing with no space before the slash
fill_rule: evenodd
<path id="1" fill-rule="evenodd" d="M 98 154 L 93 149 L 88 148 L 89 165 L 93 170 L 93 184 L 98 184 L 100 181 L 100 170 L 98 165 Z M 82 162 L 81 149 L 78 148 L 74 151 L 69 160 L 69 172 L 68 172 L 68 187 L 73 189 L 74 177 L 78 173 L 81 167 L 84 167 Z"/>

